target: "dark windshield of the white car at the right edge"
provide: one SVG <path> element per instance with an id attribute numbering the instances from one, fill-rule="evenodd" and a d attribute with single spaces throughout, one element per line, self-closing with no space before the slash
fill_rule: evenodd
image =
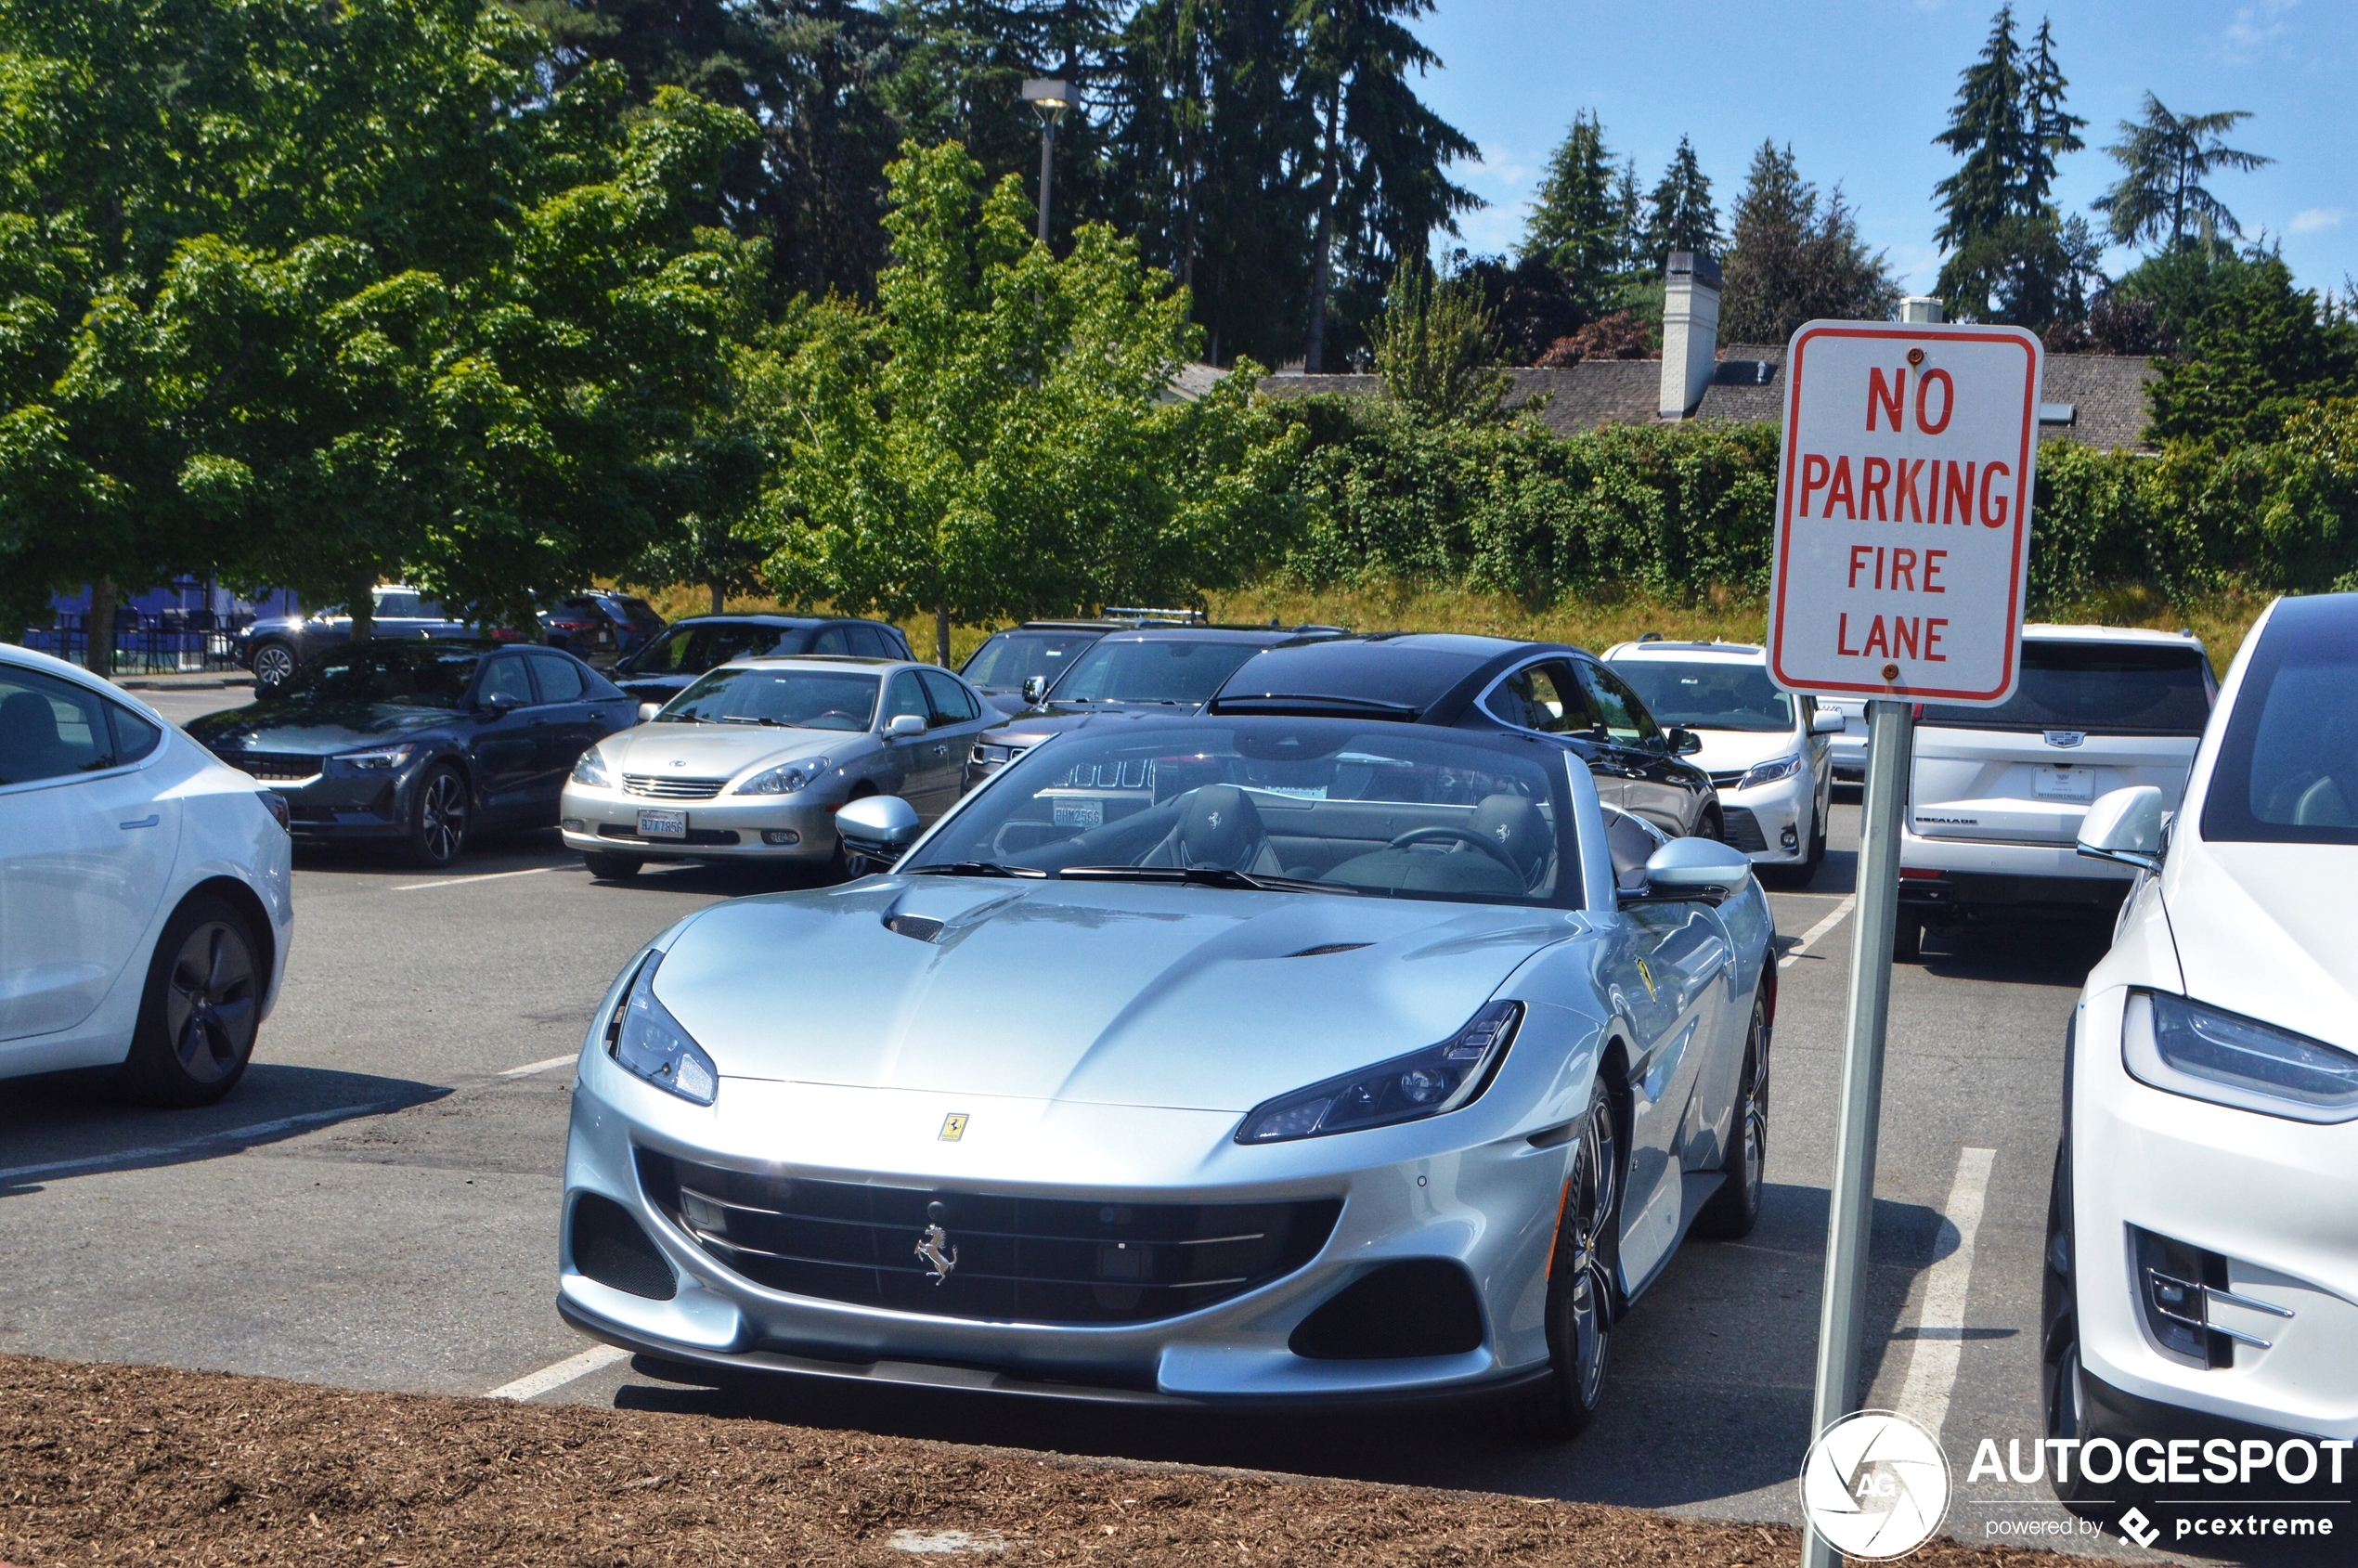
<path id="1" fill-rule="evenodd" d="M 2202 837 L 2358 844 L 2358 594 L 2275 606 L 2219 738 Z"/>

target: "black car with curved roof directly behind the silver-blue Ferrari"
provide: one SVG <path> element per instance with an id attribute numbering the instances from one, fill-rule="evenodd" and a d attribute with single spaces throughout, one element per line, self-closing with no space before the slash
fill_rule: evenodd
<path id="1" fill-rule="evenodd" d="M 1702 740 L 1665 731 L 1594 653 L 1552 641 L 1382 632 L 1276 646 L 1212 698 L 1217 714 L 1309 714 L 1507 729 L 1561 740 L 1596 797 L 1674 837 L 1721 837 L 1719 790 L 1684 757 Z"/>

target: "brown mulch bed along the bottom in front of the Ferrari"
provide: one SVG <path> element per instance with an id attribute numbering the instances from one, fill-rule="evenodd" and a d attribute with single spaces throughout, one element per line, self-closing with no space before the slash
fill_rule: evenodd
<path id="1" fill-rule="evenodd" d="M 0 1559 L 1768 1568 L 1799 1561 L 1799 1537 L 1486 1493 L 0 1356 Z M 1908 1561 L 2073 1559 L 1934 1542 Z"/>

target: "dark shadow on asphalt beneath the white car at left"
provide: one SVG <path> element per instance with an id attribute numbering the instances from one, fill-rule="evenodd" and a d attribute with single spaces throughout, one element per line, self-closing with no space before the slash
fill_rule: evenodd
<path id="1" fill-rule="evenodd" d="M 337 1122 L 408 1111 L 443 1085 L 375 1073 L 257 1061 L 217 1106 L 156 1111 L 116 1096 L 106 1073 L 57 1073 L 9 1085 L 0 1103 L 0 1198 L 59 1177 L 217 1160 Z"/>

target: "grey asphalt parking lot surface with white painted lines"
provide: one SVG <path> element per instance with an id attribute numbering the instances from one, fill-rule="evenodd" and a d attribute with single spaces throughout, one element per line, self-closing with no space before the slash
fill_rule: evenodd
<path id="1" fill-rule="evenodd" d="M 172 717 L 243 698 L 141 696 Z M 0 1349 L 439 1394 L 521 1382 L 549 1401 L 1797 1523 L 1856 830 L 1856 804 L 1839 806 L 1816 884 L 1773 894 L 1783 936 L 1809 941 L 1783 969 L 1764 1221 L 1738 1245 L 1684 1247 L 1618 1332 L 1601 1424 L 1568 1448 L 1516 1445 L 1474 1417 L 1243 1422 L 700 1389 L 592 1365 L 554 1311 L 571 1059 L 648 936 L 764 884 L 648 870 L 601 887 L 554 835 L 481 844 L 453 875 L 299 854 L 285 993 L 222 1106 L 127 1111 L 87 1082 L 14 1085 L 0 1099 Z M 2042 1483 L 1969 1483 L 1967 1467 L 1981 1438 L 2040 1436 L 2061 1042 L 2103 943 L 2087 927 L 2000 934 L 1893 983 L 1868 1403 L 1943 1431 L 1948 1528 L 1964 1540 L 2063 1518 Z"/>

